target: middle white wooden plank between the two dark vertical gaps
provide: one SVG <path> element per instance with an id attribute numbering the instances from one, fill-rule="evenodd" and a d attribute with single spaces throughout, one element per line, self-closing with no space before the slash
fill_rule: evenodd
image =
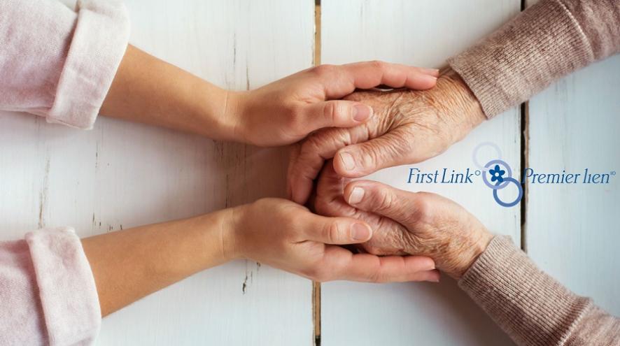
<path id="1" fill-rule="evenodd" d="M 363 1 L 323 0 L 322 62 L 381 59 L 442 66 L 517 15 L 518 0 Z M 472 20 L 475 18 L 475 20 Z M 520 170 L 519 110 L 482 124 L 440 157 L 415 166 L 423 171 L 473 168 L 472 152 L 492 142 L 515 172 Z M 488 148 L 486 148 L 488 149 Z M 479 161 L 495 159 L 481 150 Z M 519 207 L 503 208 L 481 182 L 471 185 L 408 185 L 409 166 L 370 178 L 409 190 L 437 192 L 463 204 L 496 233 L 520 242 Z M 509 345 L 484 312 L 447 277 L 441 284 L 322 284 L 322 345 Z"/>

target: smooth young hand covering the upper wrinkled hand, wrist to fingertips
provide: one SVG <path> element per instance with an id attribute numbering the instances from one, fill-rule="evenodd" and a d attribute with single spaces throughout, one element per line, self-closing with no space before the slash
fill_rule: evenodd
<path id="1" fill-rule="evenodd" d="M 360 100 L 339 100 L 378 85 L 428 89 L 439 71 L 386 62 L 321 65 L 251 92 L 229 92 L 232 138 L 259 146 L 295 143 L 323 127 L 353 127 L 372 117 Z"/>

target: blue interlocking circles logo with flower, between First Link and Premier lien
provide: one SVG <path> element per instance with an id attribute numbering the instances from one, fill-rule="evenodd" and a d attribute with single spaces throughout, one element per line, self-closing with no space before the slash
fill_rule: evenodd
<path id="1" fill-rule="evenodd" d="M 495 152 L 497 152 L 498 154 L 498 159 L 488 161 L 486 165 L 484 165 L 484 167 L 481 166 L 477 159 L 478 152 L 481 147 L 493 147 L 493 149 L 495 149 Z M 502 207 L 512 207 L 516 206 L 521 201 L 521 199 L 523 198 L 523 187 L 521 187 L 519 180 L 512 178 L 512 168 L 510 168 L 510 166 L 505 161 L 502 161 L 502 150 L 500 150 L 500 147 L 497 144 L 491 142 L 480 143 L 474 149 L 474 152 L 472 154 L 472 160 L 474 161 L 474 164 L 482 171 L 481 174 L 484 184 L 493 189 L 493 199 L 495 199 L 495 202 L 497 202 Z M 492 176 L 491 182 L 489 182 L 488 178 L 486 178 L 487 174 Z M 493 185 L 493 181 L 495 181 L 495 185 Z M 519 196 L 517 196 L 514 201 L 507 203 L 500 199 L 500 197 L 498 196 L 498 190 L 507 187 L 511 182 L 516 185 L 517 189 L 519 189 Z"/>

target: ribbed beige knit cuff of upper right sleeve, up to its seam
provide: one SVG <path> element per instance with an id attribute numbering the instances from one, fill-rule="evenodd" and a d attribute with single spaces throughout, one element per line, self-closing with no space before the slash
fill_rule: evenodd
<path id="1" fill-rule="evenodd" d="M 543 0 L 448 64 L 490 119 L 593 60 L 588 39 L 563 3 Z"/>

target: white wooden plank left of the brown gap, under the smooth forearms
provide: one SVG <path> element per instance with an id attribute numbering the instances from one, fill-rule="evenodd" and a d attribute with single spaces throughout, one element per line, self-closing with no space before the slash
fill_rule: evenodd
<path id="1" fill-rule="evenodd" d="M 313 1 L 127 1 L 131 42 L 232 89 L 312 65 Z M 283 150 L 100 118 L 92 131 L 0 114 L 0 229 L 80 236 L 283 196 Z M 251 261 L 199 273 L 104 319 L 99 345 L 309 345 L 312 284 Z"/>

